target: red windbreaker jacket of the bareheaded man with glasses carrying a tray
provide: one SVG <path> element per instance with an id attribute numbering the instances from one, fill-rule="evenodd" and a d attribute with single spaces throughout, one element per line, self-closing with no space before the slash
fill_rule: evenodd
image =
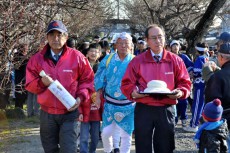
<path id="1" fill-rule="evenodd" d="M 176 104 L 176 100 L 165 97 L 143 97 L 132 99 L 131 93 L 138 87 L 139 91 L 144 91 L 147 83 L 151 80 L 165 81 L 170 90 L 180 89 L 185 99 L 190 94 L 191 81 L 183 60 L 164 50 L 159 63 L 153 60 L 150 49 L 136 56 L 128 65 L 126 73 L 122 79 L 121 90 L 123 94 L 132 101 L 137 101 L 151 106 L 164 106 Z"/>

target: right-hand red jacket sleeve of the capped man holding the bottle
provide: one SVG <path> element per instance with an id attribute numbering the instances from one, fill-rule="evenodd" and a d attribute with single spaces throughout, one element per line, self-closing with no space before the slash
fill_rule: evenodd
<path id="1" fill-rule="evenodd" d="M 94 92 L 94 73 L 85 57 L 83 57 L 82 60 L 79 60 L 78 74 L 78 90 L 76 92 L 76 97 L 79 97 L 82 102 L 85 102 L 90 99 L 92 93 Z"/>

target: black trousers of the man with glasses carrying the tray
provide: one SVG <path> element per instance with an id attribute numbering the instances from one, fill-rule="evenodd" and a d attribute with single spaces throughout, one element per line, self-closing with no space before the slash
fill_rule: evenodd
<path id="1" fill-rule="evenodd" d="M 134 114 L 136 153 L 173 153 L 174 108 L 137 103 Z"/>

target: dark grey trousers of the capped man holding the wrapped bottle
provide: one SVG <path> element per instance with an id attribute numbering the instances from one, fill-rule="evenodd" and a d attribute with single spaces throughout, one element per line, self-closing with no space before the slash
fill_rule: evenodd
<path id="1" fill-rule="evenodd" d="M 77 153 L 77 111 L 40 112 L 40 137 L 45 153 Z"/>

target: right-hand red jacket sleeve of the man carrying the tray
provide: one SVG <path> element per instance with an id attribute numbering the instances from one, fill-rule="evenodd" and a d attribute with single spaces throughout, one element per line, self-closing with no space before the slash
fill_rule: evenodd
<path id="1" fill-rule="evenodd" d="M 181 99 L 186 99 L 190 95 L 192 83 L 184 62 L 182 60 L 178 60 L 176 63 L 175 88 L 184 93 Z"/>

